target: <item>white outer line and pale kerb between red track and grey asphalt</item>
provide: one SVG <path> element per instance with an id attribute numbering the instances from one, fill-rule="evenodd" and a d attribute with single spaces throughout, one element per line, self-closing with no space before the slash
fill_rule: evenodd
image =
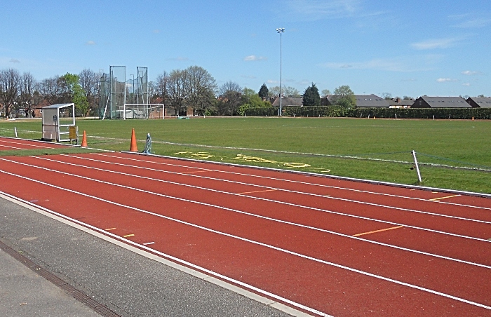
<path id="1" fill-rule="evenodd" d="M 305 311 L 310 311 L 311 313 L 316 313 L 320 316 L 325 316 L 325 317 L 332 317 L 326 313 L 323 313 L 321 311 L 317 311 L 316 309 L 312 309 L 308 306 L 304 306 L 300 303 L 293 302 L 290 299 L 286 299 L 284 297 L 275 295 L 271 292 L 267 292 L 265 290 L 262 290 L 260 288 L 256 288 L 253 285 L 249 285 L 246 283 L 243 283 L 241 281 L 234 280 L 233 278 L 229 278 L 227 276 L 215 273 L 214 271 L 210 271 L 208 269 L 205 269 L 204 267 L 199 267 L 196 264 L 192 264 L 191 262 L 184 261 L 183 259 L 179 259 L 177 257 L 173 257 L 172 255 L 168 255 L 166 253 L 160 252 L 158 250 L 149 248 L 145 245 L 140 245 L 136 242 L 130 241 L 126 238 L 121 238 L 121 236 L 117 236 L 116 234 L 111 234 L 110 232 L 105 232 L 102 229 L 99 229 L 97 227 L 93 227 L 90 224 L 86 224 L 85 222 L 81 222 L 79 220 L 75 220 L 73 218 L 67 217 L 65 215 L 62 215 L 60 213 L 56 213 L 53 210 L 50 210 L 48 208 L 41 207 L 40 205 L 35 205 L 34 203 L 29 203 L 28 201 L 25 201 L 21 198 L 12 196 L 11 194 L 7 194 L 3 191 L 0 191 L 0 197 L 7 199 L 8 201 L 12 201 L 13 203 L 17 203 L 18 205 L 22 205 L 22 207 L 29 208 L 30 210 L 34 210 L 36 213 L 40 213 L 41 215 L 46 215 L 48 217 L 51 217 L 54 220 L 58 220 L 64 224 L 68 224 L 71 227 L 74 227 L 76 229 L 79 229 L 81 231 L 84 231 L 88 234 L 92 234 L 93 236 L 97 236 L 98 238 L 102 238 L 105 241 L 108 241 L 109 243 L 113 243 L 114 245 L 119 245 L 121 248 L 125 248 L 126 250 L 130 250 L 132 252 L 135 252 L 139 255 L 143 255 L 144 257 L 147 257 L 149 259 L 153 259 L 156 262 L 160 262 L 162 264 L 167 265 L 168 267 L 172 267 L 174 269 L 178 269 L 184 273 L 190 274 L 192 276 L 195 276 L 197 278 L 202 279 L 203 281 L 208 281 L 210 283 L 213 283 L 215 285 L 218 285 L 222 288 L 226 288 L 227 290 L 231 290 L 233 292 L 236 292 L 240 295 L 243 295 L 245 297 L 248 297 L 250 299 L 254 299 L 257 302 L 260 302 L 262 304 L 265 304 L 267 306 L 272 306 L 275 309 L 285 311 L 285 313 L 289 313 L 292 316 L 298 316 L 298 317 L 307 317 L 311 316 L 308 315 L 307 313 L 304 313 L 302 311 L 297 311 L 296 309 L 292 308 L 291 306 L 297 307 L 299 309 L 304 309 Z M 165 258 L 164 258 L 165 257 Z M 170 261 L 171 259 L 172 261 Z M 206 274 L 203 274 L 202 272 L 205 272 Z M 213 276 L 216 276 L 217 278 L 213 278 Z M 239 288 L 238 286 L 234 284 L 227 283 L 231 282 L 236 285 L 241 285 L 243 288 Z M 250 292 L 249 290 L 253 290 L 254 292 Z M 282 304 L 281 302 L 275 302 L 274 300 L 267 298 L 267 297 L 262 297 L 262 294 L 265 296 L 268 296 L 270 298 L 274 298 L 278 301 L 285 302 L 290 304 L 291 306 L 286 306 L 285 304 Z"/>

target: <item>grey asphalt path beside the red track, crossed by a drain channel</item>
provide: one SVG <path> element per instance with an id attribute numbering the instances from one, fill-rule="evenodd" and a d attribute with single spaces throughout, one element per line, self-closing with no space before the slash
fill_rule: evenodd
<path id="1" fill-rule="evenodd" d="M 290 316 L 3 198 L 0 241 L 120 316 Z M 0 250 L 0 316 L 97 313 Z"/>

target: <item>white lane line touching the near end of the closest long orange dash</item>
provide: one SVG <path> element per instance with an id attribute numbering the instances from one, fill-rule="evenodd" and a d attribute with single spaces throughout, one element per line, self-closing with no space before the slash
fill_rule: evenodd
<path id="1" fill-rule="evenodd" d="M 0 159 L 2 159 L 2 158 L 0 158 Z M 30 166 L 30 165 L 25 164 L 25 163 L 21 163 L 21 164 L 22 165 Z M 57 170 L 50 170 L 48 168 L 42 168 L 42 167 L 38 167 L 38 166 L 32 166 L 32 167 L 34 167 L 34 168 L 41 168 L 41 169 L 49 170 L 49 171 L 53 171 L 55 173 L 62 173 L 62 174 L 66 174 L 66 175 L 72 175 L 72 174 L 65 173 L 65 172 L 60 172 L 60 171 L 57 171 Z M 84 166 L 82 166 L 82 167 L 84 167 Z M 90 167 L 86 167 L 86 168 L 90 168 Z M 100 169 L 97 169 L 97 168 L 93 168 L 93 169 L 100 170 Z M 102 170 L 102 171 L 109 172 L 107 170 Z M 130 174 L 120 173 L 120 172 L 114 172 L 114 171 L 111 172 L 111 173 L 116 173 L 116 174 L 120 174 L 120 175 L 127 175 L 127 176 L 134 176 L 134 177 L 139 177 L 139 178 L 143 178 L 143 179 L 149 179 L 149 177 L 142 177 L 142 176 L 137 176 L 137 175 L 130 175 Z M 73 176 L 75 176 L 75 177 L 81 177 L 83 179 L 93 180 L 91 178 L 83 177 L 83 176 L 80 176 L 80 175 L 73 175 Z M 152 180 L 152 179 L 149 179 L 149 180 Z M 95 181 L 96 182 L 102 182 L 104 184 L 113 184 L 113 183 L 104 182 L 104 181 L 101 181 L 101 180 L 95 180 Z M 166 183 L 170 183 L 170 184 L 178 184 L 178 183 L 173 183 L 173 182 L 168 182 L 168 181 L 163 181 L 163 180 L 157 180 L 157 181 L 166 182 Z M 119 186 L 119 187 L 123 187 L 123 188 L 127 188 L 127 189 L 133 189 L 133 187 L 126 187 L 126 186 L 121 185 L 121 184 L 114 184 L 114 185 L 115 186 Z M 191 185 L 187 185 L 187 186 L 193 187 L 193 188 L 198 188 L 198 189 L 201 188 L 201 187 L 194 187 L 194 186 L 191 186 Z M 368 242 L 368 243 L 373 243 L 373 244 L 376 244 L 376 245 L 382 245 L 382 246 L 386 246 L 386 247 L 389 247 L 389 248 L 395 248 L 397 250 L 414 252 L 414 253 L 417 253 L 417 254 L 420 254 L 420 255 L 428 255 L 430 257 L 438 257 L 440 259 L 447 259 L 447 260 L 454 261 L 454 262 L 469 264 L 469 265 L 473 265 L 473 266 L 476 266 L 476 267 L 484 267 L 485 269 L 491 269 L 490 266 L 487 266 L 485 264 L 479 264 L 479 263 L 464 261 L 462 259 L 455 259 L 455 258 L 452 258 L 452 257 L 445 257 L 443 255 L 434 255 L 434 254 L 431 254 L 431 253 L 428 253 L 428 252 L 423 252 L 423 251 L 419 251 L 419 250 L 412 250 L 412 249 L 408 249 L 408 248 L 399 247 L 397 245 L 390 245 L 390 244 L 386 244 L 386 243 L 381 243 L 381 242 L 378 242 L 378 241 L 371 241 L 371 240 L 368 240 L 368 239 L 365 239 L 365 238 L 359 238 L 357 236 L 349 236 L 347 234 L 340 234 L 339 232 L 330 231 L 330 230 L 326 230 L 326 229 L 321 229 L 321 228 L 317 228 L 317 227 L 311 227 L 311 226 L 307 226 L 307 225 L 304 225 L 304 224 L 297 224 L 295 222 L 288 222 L 288 221 L 285 221 L 285 220 L 279 220 L 279 219 L 272 218 L 272 217 L 266 217 L 266 216 L 262 216 L 262 215 L 256 215 L 256 214 L 253 214 L 253 213 L 247 213 L 247 212 L 242 211 L 242 210 L 231 209 L 231 208 L 222 207 L 222 206 L 219 206 L 219 205 L 212 205 L 212 204 L 209 204 L 209 203 L 201 203 L 199 201 L 190 201 L 190 200 L 187 200 L 187 199 L 184 199 L 184 198 L 177 198 L 177 197 L 167 196 L 167 195 L 163 195 L 163 194 L 159 194 L 159 193 L 153 193 L 152 191 L 145 191 L 143 189 L 135 189 L 135 190 L 142 191 L 142 192 L 147 193 L 147 194 L 154 194 L 156 196 L 162 196 L 162 197 L 165 197 L 165 198 L 173 198 L 173 199 L 176 199 L 176 200 L 179 200 L 179 201 L 185 201 L 185 202 L 189 202 L 189 203 L 196 203 L 196 204 L 199 204 L 199 205 L 206 205 L 208 207 L 219 208 L 219 209 L 231 211 L 231 212 L 234 212 L 234 213 L 240 213 L 240 214 L 243 214 L 243 215 L 249 215 L 249 216 L 257 217 L 257 218 L 260 218 L 260 219 L 263 219 L 263 220 L 269 220 L 269 221 L 279 222 L 279 223 L 282 223 L 282 224 L 289 224 L 289 225 L 292 225 L 292 226 L 295 226 L 295 227 L 302 227 L 304 229 L 311 229 L 311 230 L 321 231 L 321 232 L 325 232 L 327 234 L 334 234 L 336 236 L 342 236 L 344 238 L 350 238 L 350 239 L 354 239 L 354 240 L 358 240 L 358 241 L 364 241 L 364 242 Z M 215 191 L 215 190 L 212 190 L 212 191 Z M 238 195 L 238 196 L 243 196 L 243 195 Z M 245 197 L 250 198 L 249 196 L 245 196 Z M 405 226 L 405 227 L 410 227 L 410 226 Z M 417 228 L 415 228 L 415 229 L 417 229 Z M 455 234 L 451 234 L 451 235 L 455 235 Z M 466 236 L 461 236 L 461 237 L 466 238 Z M 473 238 L 473 239 L 476 239 L 476 240 L 479 240 L 479 241 L 490 242 L 490 241 L 483 240 L 483 239 L 480 239 L 480 238 Z"/>

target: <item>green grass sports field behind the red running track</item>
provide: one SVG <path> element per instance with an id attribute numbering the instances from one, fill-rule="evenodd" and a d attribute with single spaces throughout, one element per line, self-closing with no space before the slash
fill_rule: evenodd
<path id="1" fill-rule="evenodd" d="M 128 150 L 152 135 L 155 154 L 491 193 L 491 121 L 344 118 L 78 120 L 89 147 Z M 41 121 L 1 121 L 0 135 L 41 138 Z M 287 153 L 288 152 L 288 153 Z M 459 168 L 449 168 L 453 166 Z M 463 169 L 469 168 L 469 169 Z M 476 168 L 480 170 L 471 170 Z"/>

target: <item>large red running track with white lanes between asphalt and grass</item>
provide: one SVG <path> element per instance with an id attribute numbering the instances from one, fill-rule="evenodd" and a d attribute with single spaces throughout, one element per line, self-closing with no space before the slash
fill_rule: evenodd
<path id="1" fill-rule="evenodd" d="M 130 154 L 0 172 L 4 193 L 310 313 L 491 316 L 487 198 Z"/>

